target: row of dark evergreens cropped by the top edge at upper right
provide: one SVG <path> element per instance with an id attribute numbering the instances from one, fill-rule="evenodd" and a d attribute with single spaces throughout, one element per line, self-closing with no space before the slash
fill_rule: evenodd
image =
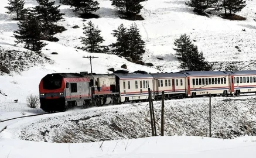
<path id="1" fill-rule="evenodd" d="M 240 12 L 245 6 L 244 0 L 190 0 L 186 5 L 192 6 L 194 12 L 203 13 L 207 8 L 213 8 L 216 11 L 224 11 L 225 16 Z"/>

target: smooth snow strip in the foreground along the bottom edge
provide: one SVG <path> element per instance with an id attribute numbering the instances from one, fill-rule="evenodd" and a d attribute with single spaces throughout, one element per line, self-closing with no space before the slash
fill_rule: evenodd
<path id="1" fill-rule="evenodd" d="M 255 157 L 256 142 L 194 136 L 163 136 L 94 143 L 44 143 L 1 139 L 0 157 Z"/>

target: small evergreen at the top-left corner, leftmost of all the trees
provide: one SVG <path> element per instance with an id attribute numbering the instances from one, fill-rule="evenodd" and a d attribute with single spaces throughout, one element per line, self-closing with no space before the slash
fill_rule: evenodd
<path id="1" fill-rule="evenodd" d="M 8 9 L 8 14 L 11 14 L 15 16 L 15 20 L 23 20 L 22 19 L 22 14 L 23 14 L 23 9 L 24 9 L 24 0 L 8 0 L 9 3 L 8 5 L 11 6 L 5 6 L 6 9 Z"/>

